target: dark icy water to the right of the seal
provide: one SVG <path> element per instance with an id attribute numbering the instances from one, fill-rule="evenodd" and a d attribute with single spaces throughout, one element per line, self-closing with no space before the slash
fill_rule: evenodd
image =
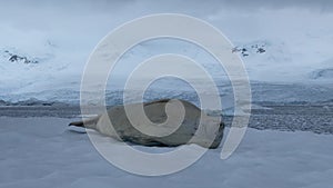
<path id="1" fill-rule="evenodd" d="M 333 133 L 333 106 L 266 106 L 251 112 L 249 127 L 285 131 Z M 231 125 L 232 117 L 224 117 Z"/>

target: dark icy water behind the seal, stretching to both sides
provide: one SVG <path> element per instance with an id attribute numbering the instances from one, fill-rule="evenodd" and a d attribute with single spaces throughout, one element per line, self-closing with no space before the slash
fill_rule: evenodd
<path id="1" fill-rule="evenodd" d="M 253 109 L 249 127 L 255 129 L 274 129 L 283 131 L 312 131 L 333 133 L 333 106 L 265 106 L 270 109 Z M 40 107 L 0 107 L 3 117 L 81 117 L 79 106 L 40 106 Z M 226 126 L 233 117 L 223 116 Z"/>

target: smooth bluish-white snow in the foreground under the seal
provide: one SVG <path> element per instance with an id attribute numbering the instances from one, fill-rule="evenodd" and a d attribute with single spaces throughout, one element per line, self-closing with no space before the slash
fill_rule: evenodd
<path id="1" fill-rule="evenodd" d="M 104 160 L 87 133 L 67 127 L 71 120 L 0 117 L 0 187 L 327 188 L 333 184 L 332 135 L 250 128 L 226 160 L 220 159 L 219 148 L 178 174 L 141 177 Z"/>

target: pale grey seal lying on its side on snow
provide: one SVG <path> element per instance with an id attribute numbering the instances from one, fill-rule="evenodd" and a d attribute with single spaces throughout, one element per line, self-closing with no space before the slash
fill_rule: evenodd
<path id="1" fill-rule="evenodd" d="M 170 112 L 170 109 L 168 112 L 168 105 L 172 106 L 174 102 L 181 102 L 184 109 L 184 117 L 179 127 L 174 127 L 176 122 L 172 119 L 168 120 Z M 140 118 L 134 122 L 128 118 L 125 108 L 138 109 L 140 106 L 143 106 L 145 116 L 155 127 L 149 127 L 151 125 Z M 171 108 L 172 111 L 176 113 L 179 109 Z M 221 117 L 209 116 L 189 101 L 173 99 L 115 106 L 110 108 L 107 113 L 82 121 L 74 121 L 69 126 L 94 129 L 119 141 L 143 146 L 176 147 L 185 144 L 196 144 L 210 149 L 219 147 L 224 130 Z M 163 136 L 152 136 L 141 131 L 144 129 L 152 130 L 153 128 L 161 130 Z"/>

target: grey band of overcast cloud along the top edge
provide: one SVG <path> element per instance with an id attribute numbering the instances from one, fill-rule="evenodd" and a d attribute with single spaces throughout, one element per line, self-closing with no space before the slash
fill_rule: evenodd
<path id="1" fill-rule="evenodd" d="M 48 30 L 52 26 L 70 27 L 108 18 L 109 22 L 128 20 L 138 16 L 161 12 L 188 13 L 200 18 L 212 17 L 221 11 L 235 13 L 258 10 L 302 9 L 317 13 L 331 13 L 331 0 L 13 0 L 0 1 L 0 20 L 21 29 Z M 107 20 L 102 20 L 107 21 Z M 105 22 L 108 23 L 108 21 Z"/>

